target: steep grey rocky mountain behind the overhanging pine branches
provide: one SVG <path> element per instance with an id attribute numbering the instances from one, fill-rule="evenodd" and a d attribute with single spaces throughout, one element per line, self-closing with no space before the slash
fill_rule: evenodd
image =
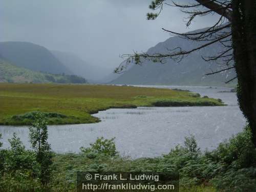
<path id="1" fill-rule="evenodd" d="M 201 29 L 202 30 L 202 29 Z M 193 32 L 198 32 L 193 31 Z M 192 32 L 192 33 L 193 33 Z M 148 54 L 167 53 L 168 50 L 180 47 L 183 50 L 191 50 L 203 42 L 190 41 L 173 36 L 160 42 L 155 47 L 148 49 Z M 168 50 L 167 50 L 168 48 Z M 215 62 L 207 62 L 202 56 L 215 55 L 222 51 L 222 46 L 216 43 L 210 47 L 189 54 L 180 62 L 166 59 L 165 64 L 145 60 L 142 65 L 133 65 L 121 76 L 111 81 L 115 84 L 172 84 L 187 86 L 224 86 L 225 82 L 236 76 L 234 70 L 223 71 L 215 75 L 204 74 L 216 71 L 218 65 Z M 232 82 L 234 84 L 236 82 Z"/>

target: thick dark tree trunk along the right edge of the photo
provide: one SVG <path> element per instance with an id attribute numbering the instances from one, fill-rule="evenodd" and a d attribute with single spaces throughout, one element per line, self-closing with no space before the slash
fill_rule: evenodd
<path id="1" fill-rule="evenodd" d="M 232 1 L 232 43 L 238 75 L 238 101 L 256 147 L 256 1 Z"/>

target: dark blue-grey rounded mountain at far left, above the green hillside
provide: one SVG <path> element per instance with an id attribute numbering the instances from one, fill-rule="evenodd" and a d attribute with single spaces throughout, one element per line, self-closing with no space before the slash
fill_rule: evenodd
<path id="1" fill-rule="evenodd" d="M 17 67 L 37 72 L 72 74 L 48 49 L 31 42 L 0 42 L 0 54 Z"/>

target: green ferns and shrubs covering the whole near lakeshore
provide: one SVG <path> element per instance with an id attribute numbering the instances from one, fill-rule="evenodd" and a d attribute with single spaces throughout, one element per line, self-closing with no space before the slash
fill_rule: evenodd
<path id="1" fill-rule="evenodd" d="M 121 157 L 113 139 L 98 138 L 79 154 L 54 154 L 47 143 L 44 114 L 37 112 L 30 127 L 32 150 L 16 134 L 10 148 L 0 151 L 0 191 L 76 191 L 76 172 L 179 172 L 180 191 L 254 191 L 256 150 L 249 127 L 201 152 L 194 136 L 185 138 L 166 155 L 156 158 Z M 2 146 L 2 143 L 0 143 Z"/>

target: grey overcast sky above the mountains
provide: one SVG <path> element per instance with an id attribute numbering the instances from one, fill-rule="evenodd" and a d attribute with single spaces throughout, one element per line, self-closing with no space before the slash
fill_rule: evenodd
<path id="1" fill-rule="evenodd" d="M 156 20 L 146 20 L 151 1 L 1 0 L 0 41 L 29 41 L 113 69 L 122 61 L 119 55 L 147 51 L 169 38 L 162 27 L 187 32 L 208 27 L 215 19 L 200 17 L 186 28 L 184 13 L 164 7 Z"/>

